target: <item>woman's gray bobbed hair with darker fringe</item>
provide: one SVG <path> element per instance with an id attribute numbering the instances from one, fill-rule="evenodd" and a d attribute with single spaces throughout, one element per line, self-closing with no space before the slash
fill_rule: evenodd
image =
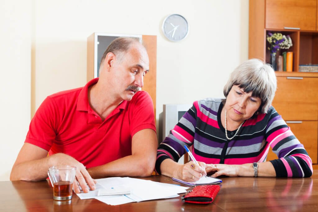
<path id="1" fill-rule="evenodd" d="M 231 73 L 223 89 L 225 98 L 233 85 L 239 85 L 244 92 L 252 92 L 252 96 L 260 98 L 262 102 L 257 112 L 267 113 L 275 96 L 277 79 L 271 65 L 259 59 L 250 59 Z"/>

